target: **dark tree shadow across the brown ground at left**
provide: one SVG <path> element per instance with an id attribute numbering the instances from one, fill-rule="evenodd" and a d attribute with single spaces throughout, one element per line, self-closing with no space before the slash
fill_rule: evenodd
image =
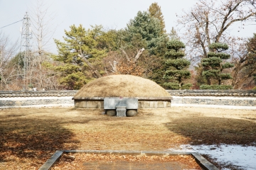
<path id="1" fill-rule="evenodd" d="M 7 157 L 46 161 L 58 149 L 75 149 L 74 133 L 56 118 L 28 118 L 26 114 L 0 115 L 0 162 Z"/>

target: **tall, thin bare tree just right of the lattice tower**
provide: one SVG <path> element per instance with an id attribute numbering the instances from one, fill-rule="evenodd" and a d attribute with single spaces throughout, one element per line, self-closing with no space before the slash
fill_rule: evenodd
<path id="1" fill-rule="evenodd" d="M 33 50 L 33 69 L 31 76 L 35 77 L 33 81 L 39 89 L 55 89 L 58 86 L 52 70 L 43 66 L 44 62 L 50 61 L 50 52 L 48 51 L 49 42 L 55 33 L 53 24 L 54 14 L 50 13 L 49 6 L 44 1 L 36 1 L 31 9 L 32 32 L 35 49 Z"/>

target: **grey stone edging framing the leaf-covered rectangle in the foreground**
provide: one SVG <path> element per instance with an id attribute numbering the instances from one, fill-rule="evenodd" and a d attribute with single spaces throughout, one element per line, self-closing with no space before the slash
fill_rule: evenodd
<path id="1" fill-rule="evenodd" d="M 216 166 L 208 162 L 201 154 L 196 152 L 157 152 L 157 151 L 124 151 L 124 150 L 58 150 L 53 154 L 39 170 L 49 170 L 65 153 L 87 153 L 87 154 L 115 154 L 115 155 L 147 155 L 147 156 L 164 156 L 164 155 L 192 155 L 196 162 L 206 170 L 218 170 Z"/>

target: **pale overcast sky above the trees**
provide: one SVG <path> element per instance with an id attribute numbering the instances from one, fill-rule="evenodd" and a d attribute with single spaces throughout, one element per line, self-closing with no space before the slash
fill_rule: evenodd
<path id="1" fill-rule="evenodd" d="M 154 2 L 161 6 L 166 30 L 169 33 L 171 27 L 176 27 L 176 13 L 181 14 L 182 9 L 189 10 L 196 4 L 196 0 L 45 0 L 44 2 L 46 6 L 50 6 L 48 13 L 55 13 L 54 23 L 50 26 L 53 30 L 56 27 L 53 38 L 60 40 L 64 30 L 69 30 L 69 26 L 73 24 L 76 26 L 82 24 L 85 28 L 95 24 L 105 28 L 124 28 L 138 11 L 146 11 Z M 32 4 L 36 4 L 36 0 L 0 0 L 0 28 L 20 21 L 26 11 L 30 12 Z M 13 41 L 18 39 L 20 41 L 21 26 L 22 22 L 18 22 L 0 29 L 0 32 L 9 35 Z M 252 33 L 256 32 L 256 25 L 246 26 L 242 30 L 238 27 L 239 25 L 233 28 L 233 33 L 240 37 L 252 37 Z M 56 52 L 53 40 L 49 45 L 49 50 Z"/>

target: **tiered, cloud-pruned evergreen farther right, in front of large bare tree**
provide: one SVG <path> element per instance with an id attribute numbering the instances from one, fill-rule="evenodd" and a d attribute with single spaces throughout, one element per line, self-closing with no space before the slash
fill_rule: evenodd
<path id="1" fill-rule="evenodd" d="M 210 52 L 207 57 L 202 60 L 203 77 L 208 80 L 208 85 L 200 86 L 201 89 L 231 89 L 232 86 L 221 85 L 223 80 L 232 79 L 231 74 L 223 73 L 224 69 L 234 67 L 228 60 L 230 55 L 223 51 L 228 50 L 228 45 L 220 42 L 212 43 L 209 46 Z M 217 86 L 216 86 L 217 85 Z"/>

